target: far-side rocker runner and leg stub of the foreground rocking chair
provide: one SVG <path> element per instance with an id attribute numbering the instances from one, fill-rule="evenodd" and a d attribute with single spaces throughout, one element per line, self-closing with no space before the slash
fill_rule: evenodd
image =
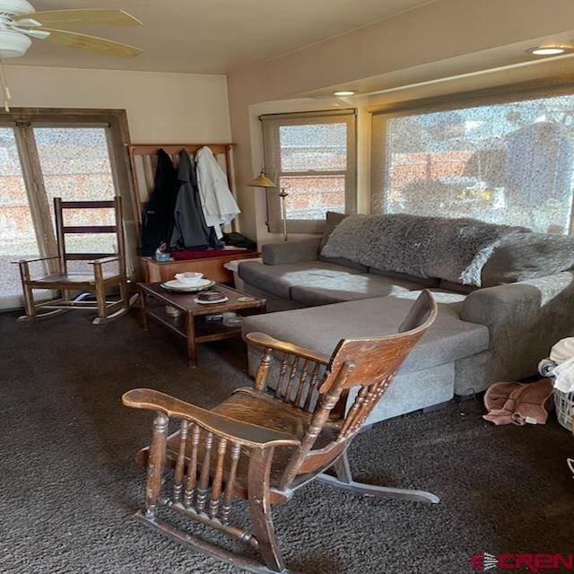
<path id="1" fill-rule="evenodd" d="M 351 467 L 349 465 L 346 452 L 339 457 L 334 468 L 335 474 L 337 475 L 336 478 L 329 474 L 318 474 L 317 481 L 319 483 L 328 484 L 329 486 L 335 486 L 335 488 L 340 488 L 344 491 L 353 492 L 354 494 L 378 499 L 415 500 L 417 502 L 431 502 L 432 504 L 440 502 L 439 497 L 431 492 L 355 483 L 352 480 Z"/>

